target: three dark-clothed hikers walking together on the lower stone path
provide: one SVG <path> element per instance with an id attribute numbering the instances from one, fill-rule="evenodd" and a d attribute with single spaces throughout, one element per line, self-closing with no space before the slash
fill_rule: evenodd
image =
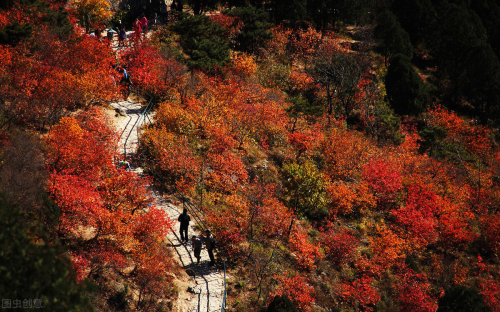
<path id="1" fill-rule="evenodd" d="M 188 243 L 188 236 L 187 236 L 187 228 L 189 226 L 189 221 L 191 220 L 191 217 L 189 214 L 187 214 L 187 208 L 184 208 L 182 210 L 182 213 L 179 215 L 177 218 L 177 221 L 180 222 L 180 241 L 182 243 Z M 208 257 L 210 258 L 209 265 L 213 265 L 215 263 L 215 258 L 213 257 L 213 249 L 215 249 L 215 238 L 213 237 L 212 233 L 210 230 L 207 228 L 205 230 L 205 236 L 200 235 L 192 235 L 191 237 L 191 244 L 192 244 L 192 251 L 194 252 L 194 257 L 196 258 L 196 263 L 199 263 L 199 260 L 201 259 L 201 248 L 203 245 L 203 242 L 205 243 L 205 248 L 206 251 L 208 252 Z"/>

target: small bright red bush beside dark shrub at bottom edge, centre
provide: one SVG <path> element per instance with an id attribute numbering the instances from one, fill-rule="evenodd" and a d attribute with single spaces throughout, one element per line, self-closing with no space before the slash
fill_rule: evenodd
<path id="1" fill-rule="evenodd" d="M 286 273 L 285 273 L 286 274 Z M 295 305 L 297 312 L 309 312 L 314 303 L 314 287 L 307 284 L 308 279 L 295 275 L 294 277 L 280 277 L 274 275 L 278 281 L 276 291 L 271 295 L 286 294 Z"/>

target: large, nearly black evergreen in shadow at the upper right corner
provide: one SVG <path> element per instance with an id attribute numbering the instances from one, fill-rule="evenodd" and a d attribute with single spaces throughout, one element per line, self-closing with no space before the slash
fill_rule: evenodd
<path id="1" fill-rule="evenodd" d="M 500 61 L 487 43 L 480 18 L 463 5 L 443 2 L 438 7 L 441 23 L 432 54 L 443 102 L 463 110 L 463 99 L 474 107 L 483 122 L 497 111 L 500 92 Z"/>

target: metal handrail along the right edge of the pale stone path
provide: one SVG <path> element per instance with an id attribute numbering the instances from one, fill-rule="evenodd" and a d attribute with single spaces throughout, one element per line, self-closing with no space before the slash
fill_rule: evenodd
<path id="1" fill-rule="evenodd" d="M 144 100 L 147 100 L 146 98 L 144 98 L 142 95 L 139 95 L 139 91 L 142 92 L 143 94 L 146 94 L 149 96 L 149 100 L 147 102 L 147 105 L 146 107 L 144 108 L 144 110 L 142 111 L 141 115 L 139 116 L 139 118 L 137 119 L 137 121 L 134 123 L 133 126 L 135 126 L 137 124 L 137 140 L 138 140 L 138 136 L 139 136 L 139 127 L 143 124 L 146 123 L 146 118 L 147 120 L 149 120 L 149 124 L 151 124 L 151 120 L 149 119 L 149 116 L 148 116 L 148 113 L 149 111 L 151 110 L 152 108 L 152 99 L 153 99 L 153 96 L 150 95 L 149 93 L 147 93 L 146 91 L 140 89 L 140 88 L 137 88 L 135 86 L 133 86 L 131 83 L 130 83 L 130 87 L 135 90 L 135 93 L 137 95 L 137 101 L 138 101 L 138 97 L 140 96 L 141 98 L 143 98 Z M 141 121 L 142 120 L 142 121 Z M 142 123 L 141 123 L 142 122 Z M 132 127 L 133 128 L 133 127 Z M 125 150 L 125 156 L 126 156 L 126 142 L 128 140 L 128 137 L 130 136 L 130 133 L 131 131 L 128 133 L 126 139 L 125 139 L 125 143 L 123 144 L 123 148 Z M 154 171 L 154 177 L 158 180 L 158 182 L 160 183 L 160 185 L 168 190 L 175 198 L 177 198 L 177 200 L 181 200 L 182 201 L 182 205 L 184 208 L 186 208 L 190 213 L 191 215 L 193 216 L 194 220 L 196 221 L 196 223 L 198 224 L 198 226 L 203 230 L 205 231 L 206 229 L 208 229 L 208 227 L 205 225 L 205 223 L 203 222 L 203 220 L 201 219 L 201 217 L 198 215 L 198 213 L 196 211 L 198 211 L 201 215 L 205 215 L 203 211 L 201 211 L 196 205 L 194 205 L 190 200 L 189 198 L 187 198 L 184 194 L 182 194 L 180 191 L 177 190 L 177 188 L 175 188 L 173 185 L 171 185 L 170 183 L 168 183 L 162 176 L 161 174 L 159 174 L 159 172 L 154 168 L 154 166 L 152 166 L 150 163 L 146 163 L 145 161 L 143 162 L 144 165 L 146 165 L 146 167 L 149 168 L 149 171 L 150 172 L 153 172 Z M 152 170 L 151 170 L 152 169 Z M 168 186 L 166 186 L 168 185 Z M 213 234 L 212 234 L 213 235 Z M 215 235 L 213 235 L 213 237 L 215 237 Z M 227 279 L 226 279 L 226 267 L 225 267 L 225 255 L 224 255 L 224 251 L 223 250 L 219 250 L 220 251 L 220 254 L 222 256 L 222 263 L 224 265 L 224 295 L 222 297 L 222 306 L 220 308 L 220 311 L 221 312 L 224 312 L 224 309 L 225 309 L 225 300 L 226 300 L 226 294 L 227 294 Z"/>

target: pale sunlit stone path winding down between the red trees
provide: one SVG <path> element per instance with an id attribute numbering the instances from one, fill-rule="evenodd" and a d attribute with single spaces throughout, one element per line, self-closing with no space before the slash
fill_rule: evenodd
<path id="1" fill-rule="evenodd" d="M 118 146 L 119 152 L 123 153 L 123 147 L 126 147 L 127 159 L 133 155 L 138 146 L 137 141 L 137 127 L 136 124 L 141 116 L 143 107 L 140 103 L 134 103 L 129 100 L 119 101 L 110 103 L 114 108 L 121 108 L 125 111 L 127 116 L 113 116 L 113 125 L 117 128 L 121 136 L 119 138 Z M 128 137 L 128 139 L 126 139 Z M 123 146 L 126 140 L 126 146 Z M 130 163 L 132 170 L 138 175 L 142 175 L 142 168 L 137 166 L 137 164 Z M 184 245 L 180 242 L 180 237 L 178 235 L 178 222 L 177 217 L 182 212 L 182 208 L 179 208 L 169 202 L 158 192 L 154 187 L 150 187 L 150 190 L 155 199 L 155 203 L 158 207 L 162 208 L 173 221 L 174 230 L 173 232 L 168 232 L 167 241 L 169 246 L 173 248 L 173 254 L 177 255 L 177 262 L 184 268 L 191 268 L 194 271 L 193 286 L 194 292 L 192 296 L 188 299 L 177 302 L 179 312 L 217 312 L 221 311 L 222 300 L 224 296 L 224 271 L 220 267 L 208 266 L 209 258 L 206 250 L 201 250 L 201 260 L 199 264 L 196 264 L 195 258 L 192 255 L 191 245 Z M 192 224 L 193 222 L 191 222 Z M 189 228 L 189 236 L 194 233 L 194 228 L 191 226 Z M 198 233 L 196 233 L 198 234 Z M 194 260 L 193 260 L 194 259 Z M 180 289 L 180 291 L 187 291 L 187 289 Z M 184 296 L 185 297 L 185 296 Z"/>

